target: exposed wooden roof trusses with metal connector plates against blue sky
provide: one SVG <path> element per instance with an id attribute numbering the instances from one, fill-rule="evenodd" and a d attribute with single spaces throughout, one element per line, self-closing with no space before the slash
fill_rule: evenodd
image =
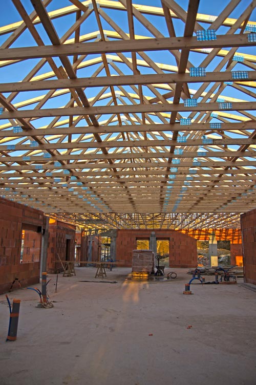
<path id="1" fill-rule="evenodd" d="M 12 3 L 2 197 L 95 231 L 240 226 L 255 208 L 256 0 L 218 15 L 199 0 Z"/>

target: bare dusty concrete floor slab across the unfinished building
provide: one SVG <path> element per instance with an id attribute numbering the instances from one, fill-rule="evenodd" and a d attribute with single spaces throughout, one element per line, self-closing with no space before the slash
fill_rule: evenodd
<path id="1" fill-rule="evenodd" d="M 194 295 L 183 295 L 191 276 L 174 270 L 175 280 L 126 283 L 129 268 L 104 280 L 94 267 L 76 268 L 76 276 L 59 275 L 57 293 L 49 275 L 52 309 L 36 308 L 32 290 L 8 293 L 22 300 L 13 342 L 5 341 L 0 295 L 0 384 L 255 385 L 256 292 L 239 279 L 191 285 Z"/>

